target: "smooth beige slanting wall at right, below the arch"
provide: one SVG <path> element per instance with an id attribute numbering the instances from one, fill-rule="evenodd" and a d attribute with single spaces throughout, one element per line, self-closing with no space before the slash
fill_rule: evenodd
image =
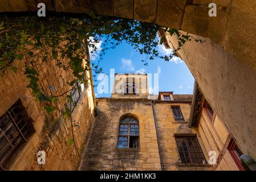
<path id="1" fill-rule="evenodd" d="M 212 40 L 186 43 L 178 55 L 188 65 L 204 97 L 245 154 L 256 159 L 256 73 Z M 176 37 L 167 37 L 177 48 Z"/>

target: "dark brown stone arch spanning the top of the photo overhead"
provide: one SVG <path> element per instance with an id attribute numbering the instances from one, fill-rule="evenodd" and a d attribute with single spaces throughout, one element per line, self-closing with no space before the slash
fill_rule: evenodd
<path id="1" fill-rule="evenodd" d="M 256 71 L 254 0 L 55 0 L 40 1 L 46 10 L 59 13 L 90 13 L 157 23 L 210 38 L 237 60 Z M 209 3 L 217 16 L 210 17 Z M 36 11 L 38 0 L 0 0 L 0 12 Z M 35 14 L 36 15 L 36 14 Z M 246 19 L 246 21 L 245 21 Z"/>

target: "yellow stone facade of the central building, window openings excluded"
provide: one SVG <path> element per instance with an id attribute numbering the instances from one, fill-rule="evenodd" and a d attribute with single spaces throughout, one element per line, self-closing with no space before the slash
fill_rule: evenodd
<path id="1" fill-rule="evenodd" d="M 121 85 L 125 85 L 127 77 L 143 77 L 147 80 L 147 75 L 115 76 L 115 84 L 123 79 Z M 140 82 L 137 84 L 141 86 Z M 201 107 L 198 125 L 194 125 L 194 121 L 192 125 L 192 95 L 160 92 L 159 96 L 151 96 L 146 93 L 112 92 L 110 98 L 96 99 L 97 116 L 80 170 L 238 170 L 227 150 L 231 135 L 216 114 L 214 122 L 209 121 L 205 109 Z M 164 96 L 169 96 L 169 100 L 163 100 Z M 180 108 L 182 121 L 174 117 L 172 107 Z M 138 148 L 119 146 L 120 119 L 124 115 L 139 121 Z M 176 136 L 196 137 L 204 155 L 204 163 L 182 162 Z M 208 162 L 210 151 L 217 153 L 214 165 Z"/>

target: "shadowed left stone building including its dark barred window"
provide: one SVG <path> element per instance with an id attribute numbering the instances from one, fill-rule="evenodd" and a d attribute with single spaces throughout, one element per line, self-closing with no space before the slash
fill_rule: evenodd
<path id="1" fill-rule="evenodd" d="M 88 52 L 82 56 L 84 64 L 90 61 Z M 67 64 L 67 60 L 58 59 Z M 71 123 L 58 110 L 48 114 L 44 103 L 37 101 L 26 87 L 26 61 L 15 61 L 17 73 L 7 71 L 0 77 L 0 170 L 75 170 L 94 122 L 96 102 L 91 73 L 86 72 L 88 84 L 80 84 L 80 91 L 71 90 L 77 102 Z M 58 96 L 71 89 L 68 82 L 74 78 L 72 70 L 59 68 L 50 55 L 47 61 L 38 56 L 34 68 L 39 74 L 39 88 L 47 96 Z M 67 106 L 67 94 L 54 102 L 56 108 Z M 39 151 L 46 154 L 45 165 L 37 162 Z"/>

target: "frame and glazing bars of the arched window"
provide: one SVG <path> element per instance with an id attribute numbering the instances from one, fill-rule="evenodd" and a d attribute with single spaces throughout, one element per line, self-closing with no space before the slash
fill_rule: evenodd
<path id="1" fill-rule="evenodd" d="M 125 118 L 133 118 L 133 119 L 135 119 L 136 121 L 137 121 L 137 123 L 122 123 L 122 121 L 125 119 Z M 120 129 L 121 128 L 123 128 L 123 127 L 121 127 L 121 125 L 126 125 L 126 126 L 128 126 L 127 128 L 128 128 L 128 130 L 127 130 L 127 134 L 120 134 Z M 131 135 L 130 134 L 130 131 L 131 131 L 131 126 L 138 126 L 137 127 L 137 129 L 138 129 L 138 134 L 137 135 Z M 135 127 L 136 128 L 136 127 Z M 127 137 L 127 147 L 119 147 L 119 142 L 120 141 L 125 141 L 125 140 L 119 140 L 120 139 L 120 137 Z M 135 139 L 135 140 L 137 140 L 137 142 L 136 142 L 136 145 L 137 145 L 137 147 L 129 147 L 129 145 L 130 145 L 130 138 L 131 137 L 137 137 L 137 139 Z M 133 141 L 134 142 L 134 141 Z M 133 143 L 134 144 L 134 143 Z M 122 146 L 123 146 L 123 144 L 122 144 Z M 140 126 L 139 126 L 139 120 L 136 118 L 136 117 L 133 117 L 133 116 L 131 116 L 131 115 L 126 115 L 126 116 L 124 116 L 124 117 L 122 117 L 121 119 L 120 119 L 120 122 L 119 122 L 119 130 L 118 130 L 118 138 L 117 138 L 117 148 L 139 148 L 140 147 Z"/>

